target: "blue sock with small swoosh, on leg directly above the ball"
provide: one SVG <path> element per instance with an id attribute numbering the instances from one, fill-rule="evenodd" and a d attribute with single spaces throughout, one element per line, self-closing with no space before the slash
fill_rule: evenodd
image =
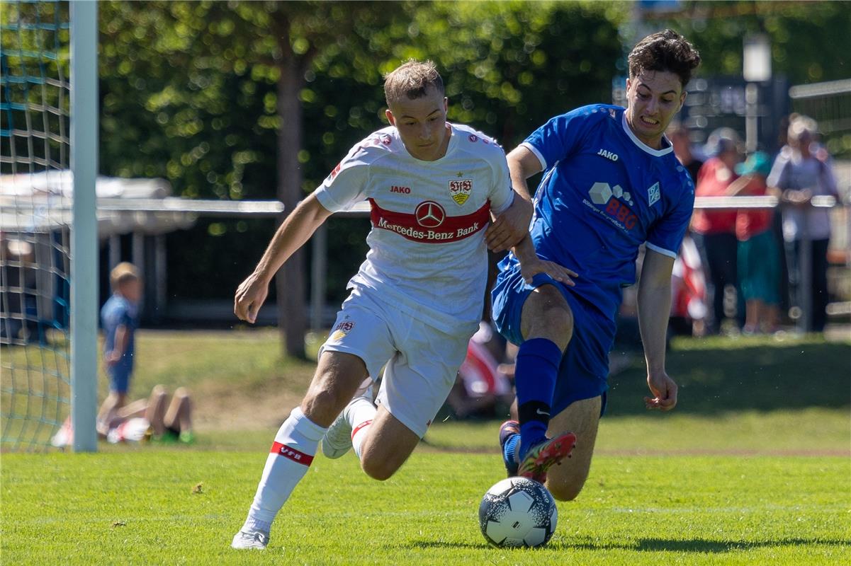
<path id="1" fill-rule="evenodd" d="M 546 338 L 527 340 L 517 352 L 515 383 L 521 459 L 529 447 L 546 437 L 561 362 L 562 349 Z"/>

